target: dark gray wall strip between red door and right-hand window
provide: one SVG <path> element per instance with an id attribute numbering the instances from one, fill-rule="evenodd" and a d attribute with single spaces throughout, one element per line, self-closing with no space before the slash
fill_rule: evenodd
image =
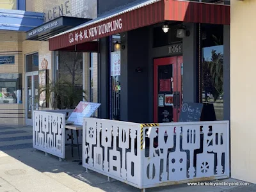
<path id="1" fill-rule="evenodd" d="M 197 44 L 196 24 L 184 23 L 190 35 L 183 38 L 183 101 L 196 102 Z"/>

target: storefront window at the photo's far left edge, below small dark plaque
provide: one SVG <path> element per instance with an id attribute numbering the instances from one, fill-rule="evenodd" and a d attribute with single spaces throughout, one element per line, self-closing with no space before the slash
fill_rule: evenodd
<path id="1" fill-rule="evenodd" d="M 22 104 L 22 74 L 0 74 L 0 104 Z"/>

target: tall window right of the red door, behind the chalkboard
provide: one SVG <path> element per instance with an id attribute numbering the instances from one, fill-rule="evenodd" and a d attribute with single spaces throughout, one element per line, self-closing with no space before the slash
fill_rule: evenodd
<path id="1" fill-rule="evenodd" d="M 223 120 L 223 97 L 223 26 L 202 24 L 202 102 L 216 120 Z"/>

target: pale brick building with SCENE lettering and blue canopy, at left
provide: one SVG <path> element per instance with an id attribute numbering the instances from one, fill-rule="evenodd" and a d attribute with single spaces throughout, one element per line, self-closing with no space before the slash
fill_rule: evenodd
<path id="1" fill-rule="evenodd" d="M 45 80 L 52 83 L 65 77 L 65 81 L 86 90 L 87 100 L 97 102 L 97 54 L 52 52 L 47 42 L 51 35 L 97 17 L 97 1 L 0 1 L 2 7 L 12 10 L 0 10 L 1 54 L 8 56 L 0 57 L 0 124 L 32 125 L 33 110 L 51 108 L 51 101 L 40 93 Z M 15 14 L 22 19 L 6 19 L 5 15 L 9 18 Z"/>

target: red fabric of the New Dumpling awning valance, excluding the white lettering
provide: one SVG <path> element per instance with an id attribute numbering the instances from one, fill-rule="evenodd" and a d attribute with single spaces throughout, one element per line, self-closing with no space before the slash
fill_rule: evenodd
<path id="1" fill-rule="evenodd" d="M 122 20 L 122 28 L 109 30 L 107 33 L 101 33 L 99 35 L 99 26 L 109 24 L 115 20 Z M 131 12 L 122 13 L 111 19 L 102 20 L 96 22 L 90 26 L 72 31 L 72 33 L 65 33 L 60 36 L 49 39 L 49 50 L 56 51 L 72 45 L 83 44 L 90 42 L 97 38 L 103 38 L 116 33 L 122 33 L 125 31 L 131 31 L 133 29 L 142 28 L 144 26 L 150 26 L 164 20 L 175 20 L 182 22 L 200 22 L 209 24 L 230 24 L 230 6 L 223 4 L 209 4 L 209 3 L 196 3 L 190 1 L 176 1 L 176 0 L 161 0 L 156 3 L 148 4 Z M 96 28 L 98 35 L 89 36 L 69 42 L 69 36 L 73 36 L 76 33 L 79 35 L 80 31 L 84 35 L 84 31 Z"/>

